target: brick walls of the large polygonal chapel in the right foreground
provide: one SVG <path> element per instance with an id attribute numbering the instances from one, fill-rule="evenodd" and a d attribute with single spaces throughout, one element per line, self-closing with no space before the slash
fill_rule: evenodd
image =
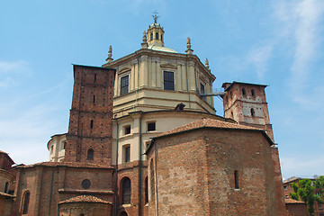
<path id="1" fill-rule="evenodd" d="M 270 145 L 253 130 L 205 128 L 156 139 L 148 160 L 157 160 L 157 202 L 150 197 L 148 215 L 155 208 L 159 215 L 286 215 L 275 197 Z"/>

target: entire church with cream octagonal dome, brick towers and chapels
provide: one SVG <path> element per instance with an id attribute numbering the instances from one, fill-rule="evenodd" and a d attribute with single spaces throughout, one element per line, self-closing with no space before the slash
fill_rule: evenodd
<path id="1" fill-rule="evenodd" d="M 190 39 L 164 41 L 156 16 L 139 50 L 73 66 L 68 131 L 49 161 L 15 167 L 10 215 L 288 215 L 266 85 L 213 92 Z"/>

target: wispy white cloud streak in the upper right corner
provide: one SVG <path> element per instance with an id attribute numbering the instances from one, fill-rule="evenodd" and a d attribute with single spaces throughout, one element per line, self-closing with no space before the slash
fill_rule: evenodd
<path id="1" fill-rule="evenodd" d="M 318 47 L 323 40 L 322 20 L 324 16 L 324 1 L 277 1 L 275 15 L 282 26 L 278 32 L 282 32 L 286 40 L 293 45 L 293 63 L 290 68 L 291 77 L 289 85 L 293 100 L 302 105 L 311 103 L 308 94 L 308 84 L 314 71 L 311 63 L 319 55 Z M 307 91 L 306 91 L 307 90 Z"/>

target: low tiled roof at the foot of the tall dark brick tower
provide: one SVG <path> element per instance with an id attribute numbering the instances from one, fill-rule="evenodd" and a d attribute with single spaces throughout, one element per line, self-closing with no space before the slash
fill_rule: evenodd
<path id="1" fill-rule="evenodd" d="M 32 166 L 72 166 L 72 167 L 86 167 L 86 168 L 112 168 L 112 166 L 104 166 L 100 164 L 79 163 L 79 162 L 41 162 L 33 165 L 17 166 L 17 168 L 26 168 Z"/>

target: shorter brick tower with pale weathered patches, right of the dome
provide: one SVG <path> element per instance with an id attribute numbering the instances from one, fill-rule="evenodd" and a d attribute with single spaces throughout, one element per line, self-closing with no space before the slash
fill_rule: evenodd
<path id="1" fill-rule="evenodd" d="M 222 87 L 227 93 L 223 96 L 224 117 L 264 129 L 274 141 L 266 103 L 266 85 L 233 82 L 224 83 Z"/>

